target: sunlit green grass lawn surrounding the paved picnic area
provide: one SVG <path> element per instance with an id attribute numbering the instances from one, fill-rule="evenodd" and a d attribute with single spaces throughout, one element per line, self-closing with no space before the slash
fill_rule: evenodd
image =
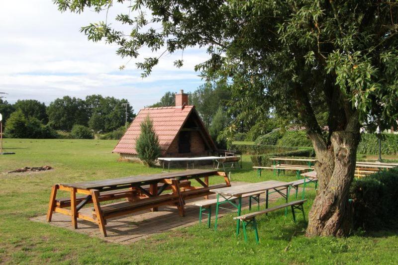
<path id="1" fill-rule="evenodd" d="M 356 233 L 349 238 L 303 236 L 305 223 L 298 215 L 278 211 L 258 219 L 260 245 L 249 231 L 249 243 L 234 236 L 231 216 L 220 219 L 219 230 L 205 226 L 179 229 L 123 246 L 47 224 L 30 217 L 46 213 L 50 187 L 56 182 L 124 177 L 159 173 L 160 168 L 117 162 L 110 140 L 6 139 L 4 147 L 15 155 L 0 156 L 0 263 L 23 264 L 274 264 L 274 263 L 387 263 L 397 262 L 398 231 Z M 244 156 L 243 169 L 233 181 L 275 179 L 264 172 L 260 178 Z M 7 174 L 21 168 L 49 165 L 55 170 L 32 174 Z M 293 175 L 279 177 L 295 179 Z M 314 194 L 306 193 L 309 210 Z M 278 202 L 277 202 L 278 203 Z"/>

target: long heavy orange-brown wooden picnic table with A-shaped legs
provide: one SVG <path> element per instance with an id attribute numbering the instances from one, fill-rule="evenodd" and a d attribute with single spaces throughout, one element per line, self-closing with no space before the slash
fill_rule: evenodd
<path id="1" fill-rule="evenodd" d="M 189 170 L 177 173 L 161 173 L 150 176 L 130 176 L 130 177 L 120 177 L 112 179 L 102 179 L 75 183 L 60 183 L 55 184 L 52 187 L 49 208 L 47 212 L 47 221 L 50 222 L 53 212 L 59 212 L 62 214 L 70 215 L 72 218 L 72 225 L 77 228 L 77 218 L 81 218 L 87 221 L 98 223 L 101 232 L 106 236 L 105 223 L 106 216 L 103 215 L 101 209 L 106 209 L 109 212 L 109 216 L 123 215 L 125 212 L 133 212 L 135 210 L 141 209 L 152 209 L 157 210 L 157 207 L 164 204 L 176 205 L 179 209 L 179 214 L 184 216 L 184 196 L 195 197 L 208 195 L 210 192 L 210 186 L 208 186 L 208 177 L 210 176 L 221 176 L 224 178 L 225 184 L 219 184 L 219 187 L 230 186 L 229 179 L 224 172 L 217 172 L 216 170 Z M 204 177 L 204 181 L 200 178 Z M 187 193 L 180 190 L 180 181 L 196 179 L 203 186 L 203 188 L 197 188 L 190 186 Z M 158 189 L 158 184 L 161 183 Z M 149 185 L 149 190 L 145 188 L 145 185 Z M 172 194 L 163 194 L 163 191 L 167 187 L 172 187 Z M 128 196 L 125 194 L 130 192 Z M 71 209 L 65 209 L 63 207 L 57 206 L 57 191 L 64 190 L 70 192 L 70 207 Z M 119 190 L 122 190 L 119 192 Z M 109 196 L 109 193 L 116 191 L 122 196 Z M 79 198 L 77 200 L 76 194 L 84 194 L 84 198 Z M 102 196 L 101 194 L 104 194 Z M 114 195 L 113 194 L 113 195 Z M 138 195 L 137 195 L 138 194 Z M 101 197 L 102 196 L 102 197 Z M 100 201 L 113 200 L 115 198 L 128 198 L 127 201 L 121 202 L 119 204 L 107 204 L 102 208 L 100 206 Z M 64 199 L 64 198 L 63 198 Z M 77 202 L 80 202 L 77 204 Z M 87 203 L 94 204 L 93 216 L 79 212 Z M 109 206 L 110 205 L 110 206 Z M 136 208 L 134 208 L 137 206 Z M 133 209 L 134 208 L 134 209 Z M 125 212 L 123 212 L 125 209 Z M 118 211 L 116 211 L 118 210 Z"/>

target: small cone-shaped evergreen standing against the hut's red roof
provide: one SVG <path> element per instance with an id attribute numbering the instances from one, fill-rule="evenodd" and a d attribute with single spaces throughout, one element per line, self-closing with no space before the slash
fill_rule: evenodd
<path id="1" fill-rule="evenodd" d="M 159 137 L 153 129 L 153 122 L 149 115 L 141 122 L 140 127 L 141 133 L 136 140 L 135 150 L 144 165 L 152 167 L 161 155 Z"/>

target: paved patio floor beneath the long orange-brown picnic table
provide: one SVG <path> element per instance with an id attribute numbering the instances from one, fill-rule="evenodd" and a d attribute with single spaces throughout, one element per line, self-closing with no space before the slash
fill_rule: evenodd
<path id="1" fill-rule="evenodd" d="M 247 183 L 232 182 L 232 185 L 242 184 Z M 279 197 L 280 195 L 278 193 L 270 194 L 271 201 Z M 210 198 L 215 198 L 215 195 L 211 195 Z M 198 200 L 198 198 L 187 200 L 185 217 L 180 217 L 178 215 L 178 209 L 175 206 L 161 206 L 159 207 L 158 212 L 151 212 L 150 210 L 146 210 L 131 215 L 108 219 L 106 228 L 108 236 L 105 238 L 102 236 L 97 224 L 79 219 L 79 228 L 75 230 L 71 224 L 71 217 L 60 213 L 53 214 L 53 219 L 51 223 L 47 223 L 46 215 L 33 217 L 31 218 L 31 220 L 45 223 L 46 225 L 69 229 L 74 232 L 86 234 L 90 237 L 97 237 L 107 242 L 131 244 L 157 233 L 163 233 L 197 224 L 199 219 L 199 207 L 192 204 L 192 202 L 196 200 Z M 261 202 L 264 201 L 265 196 L 263 195 L 261 196 Z M 242 199 L 242 202 L 244 205 L 244 209 L 248 208 L 248 199 Z M 227 205 L 225 206 L 229 207 Z M 87 213 L 91 213 L 91 207 L 84 208 L 81 211 L 87 211 Z M 225 214 L 230 214 L 230 212 L 221 209 L 219 216 L 223 216 Z M 205 224 L 203 224 L 203 226 L 205 226 Z"/>

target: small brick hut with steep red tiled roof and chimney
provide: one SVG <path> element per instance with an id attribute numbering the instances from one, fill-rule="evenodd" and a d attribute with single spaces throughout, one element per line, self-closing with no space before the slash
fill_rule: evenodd
<path id="1" fill-rule="evenodd" d="M 137 159 L 135 141 L 147 115 L 159 137 L 162 157 L 209 156 L 217 150 L 195 106 L 188 105 L 188 94 L 181 90 L 176 94 L 176 106 L 141 109 L 113 153 L 125 159 Z"/>

